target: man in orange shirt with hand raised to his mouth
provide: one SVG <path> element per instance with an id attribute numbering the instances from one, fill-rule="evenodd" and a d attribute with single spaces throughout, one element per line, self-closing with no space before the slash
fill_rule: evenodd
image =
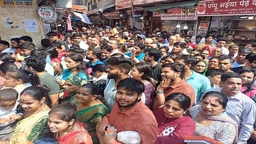
<path id="1" fill-rule="evenodd" d="M 190 107 L 195 103 L 195 91 L 189 83 L 183 80 L 185 74 L 184 65 L 180 63 L 163 64 L 162 66 L 162 82 L 156 88 L 156 98 L 153 104 L 153 110 L 164 104 L 166 96 L 171 93 L 184 93 L 189 96 Z"/>

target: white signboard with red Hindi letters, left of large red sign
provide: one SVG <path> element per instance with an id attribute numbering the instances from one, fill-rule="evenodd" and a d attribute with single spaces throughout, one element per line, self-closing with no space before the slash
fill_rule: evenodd
<path id="1" fill-rule="evenodd" d="M 197 20 L 195 11 L 195 7 L 168 9 L 165 14 L 161 14 L 161 20 Z"/>

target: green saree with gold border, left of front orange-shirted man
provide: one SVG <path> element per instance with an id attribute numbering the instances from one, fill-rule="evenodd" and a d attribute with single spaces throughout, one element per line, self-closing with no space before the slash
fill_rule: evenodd
<path id="1" fill-rule="evenodd" d="M 96 104 L 77 112 L 77 120 L 87 125 L 86 129 L 92 136 L 93 144 L 100 143 L 96 137 L 95 127 L 108 113 L 108 108 L 104 104 Z"/>

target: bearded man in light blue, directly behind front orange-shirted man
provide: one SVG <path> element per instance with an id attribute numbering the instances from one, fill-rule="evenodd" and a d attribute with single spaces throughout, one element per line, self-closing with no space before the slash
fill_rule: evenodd
<path id="1" fill-rule="evenodd" d="M 129 77 L 129 72 L 134 66 L 132 59 L 124 57 L 109 57 L 108 66 L 106 72 L 108 74 L 108 80 L 106 82 L 106 88 L 104 96 L 109 110 L 111 110 L 115 103 L 116 98 L 116 85 L 124 78 Z"/>

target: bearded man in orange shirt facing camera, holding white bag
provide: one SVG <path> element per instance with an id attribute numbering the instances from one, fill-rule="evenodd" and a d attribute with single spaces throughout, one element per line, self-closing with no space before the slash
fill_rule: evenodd
<path id="1" fill-rule="evenodd" d="M 116 133 L 135 131 L 139 133 L 141 143 L 154 144 L 158 135 L 158 125 L 153 112 L 142 103 L 141 97 L 144 85 L 139 80 L 126 78 L 117 85 L 116 103 L 110 114 L 96 126 L 96 133 L 103 144 L 124 143 L 117 141 Z M 109 126 L 116 129 L 109 135 L 106 132 Z"/>

